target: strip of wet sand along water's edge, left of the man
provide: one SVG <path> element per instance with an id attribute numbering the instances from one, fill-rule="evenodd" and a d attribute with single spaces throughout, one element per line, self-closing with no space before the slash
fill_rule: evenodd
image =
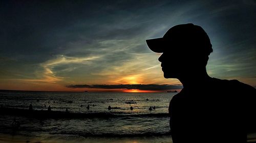
<path id="1" fill-rule="evenodd" d="M 110 142 L 110 143 L 172 143 L 172 137 L 166 136 L 141 136 L 141 137 L 82 137 L 82 136 L 22 136 L 22 135 L 9 135 L 0 134 L 0 143 L 75 143 L 75 142 Z"/>

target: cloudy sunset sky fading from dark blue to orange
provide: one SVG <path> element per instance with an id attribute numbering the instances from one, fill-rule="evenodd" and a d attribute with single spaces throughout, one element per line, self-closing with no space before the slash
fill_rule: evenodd
<path id="1" fill-rule="evenodd" d="M 255 88 L 255 15 L 253 0 L 0 1 L 0 89 L 181 89 L 163 77 L 161 54 L 145 40 L 184 23 L 210 38 L 209 76 Z"/>

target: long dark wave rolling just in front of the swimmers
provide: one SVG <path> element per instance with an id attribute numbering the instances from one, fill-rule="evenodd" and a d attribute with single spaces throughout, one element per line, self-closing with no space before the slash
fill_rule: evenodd
<path id="1" fill-rule="evenodd" d="M 19 109 L 19 108 L 8 108 L 1 107 L 0 115 L 15 115 L 15 116 L 26 116 L 38 119 L 45 118 L 130 118 L 130 117 L 168 117 L 168 113 L 118 113 L 118 112 L 93 112 L 93 113 L 77 113 L 69 111 L 48 111 L 48 110 L 29 110 L 29 109 Z"/>

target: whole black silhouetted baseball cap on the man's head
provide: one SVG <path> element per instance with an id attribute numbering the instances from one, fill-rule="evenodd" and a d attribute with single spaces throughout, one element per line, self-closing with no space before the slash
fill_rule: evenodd
<path id="1" fill-rule="evenodd" d="M 208 35 L 201 26 L 193 23 L 175 25 L 161 38 L 147 39 L 147 46 L 154 52 L 182 51 L 207 54 L 212 52 Z"/>

